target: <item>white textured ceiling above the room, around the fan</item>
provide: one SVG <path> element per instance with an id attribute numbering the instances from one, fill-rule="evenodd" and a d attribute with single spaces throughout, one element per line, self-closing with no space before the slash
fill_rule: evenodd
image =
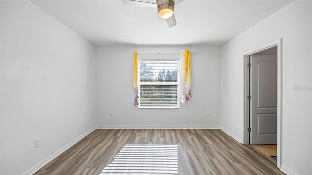
<path id="1" fill-rule="evenodd" d="M 175 6 L 172 28 L 156 8 L 122 0 L 31 2 L 95 45 L 221 45 L 292 0 L 184 0 Z"/>

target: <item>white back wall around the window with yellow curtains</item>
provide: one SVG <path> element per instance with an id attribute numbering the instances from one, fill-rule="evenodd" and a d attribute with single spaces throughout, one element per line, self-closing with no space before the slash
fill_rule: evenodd
<path id="1" fill-rule="evenodd" d="M 197 51 L 192 54 L 192 98 L 180 109 L 137 109 L 134 106 L 133 57 L 139 52 Z M 177 54 L 179 57 L 179 54 Z M 219 47 L 97 47 L 97 123 L 117 127 L 219 127 Z M 140 57 L 140 54 L 139 54 Z M 207 118 L 207 113 L 210 118 Z M 114 117 L 110 117 L 113 114 Z"/>

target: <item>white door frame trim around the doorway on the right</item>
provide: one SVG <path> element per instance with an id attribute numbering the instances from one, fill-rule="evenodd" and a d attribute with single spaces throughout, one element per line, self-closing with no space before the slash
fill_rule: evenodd
<path id="1" fill-rule="evenodd" d="M 281 107 L 282 107 L 282 39 L 276 39 L 269 43 L 258 46 L 254 49 L 247 51 L 244 54 L 244 129 L 243 129 L 243 144 L 249 144 L 249 132 L 247 128 L 249 127 L 249 101 L 247 99 L 248 96 L 248 88 L 249 88 L 249 79 L 248 79 L 248 58 L 250 55 L 253 55 L 257 52 L 267 50 L 269 48 L 277 46 L 277 167 L 281 166 Z"/>

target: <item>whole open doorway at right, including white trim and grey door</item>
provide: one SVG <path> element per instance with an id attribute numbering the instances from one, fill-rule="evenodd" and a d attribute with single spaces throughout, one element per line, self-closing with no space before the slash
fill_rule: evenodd
<path id="1" fill-rule="evenodd" d="M 244 144 L 280 168 L 281 39 L 244 56 Z"/>

